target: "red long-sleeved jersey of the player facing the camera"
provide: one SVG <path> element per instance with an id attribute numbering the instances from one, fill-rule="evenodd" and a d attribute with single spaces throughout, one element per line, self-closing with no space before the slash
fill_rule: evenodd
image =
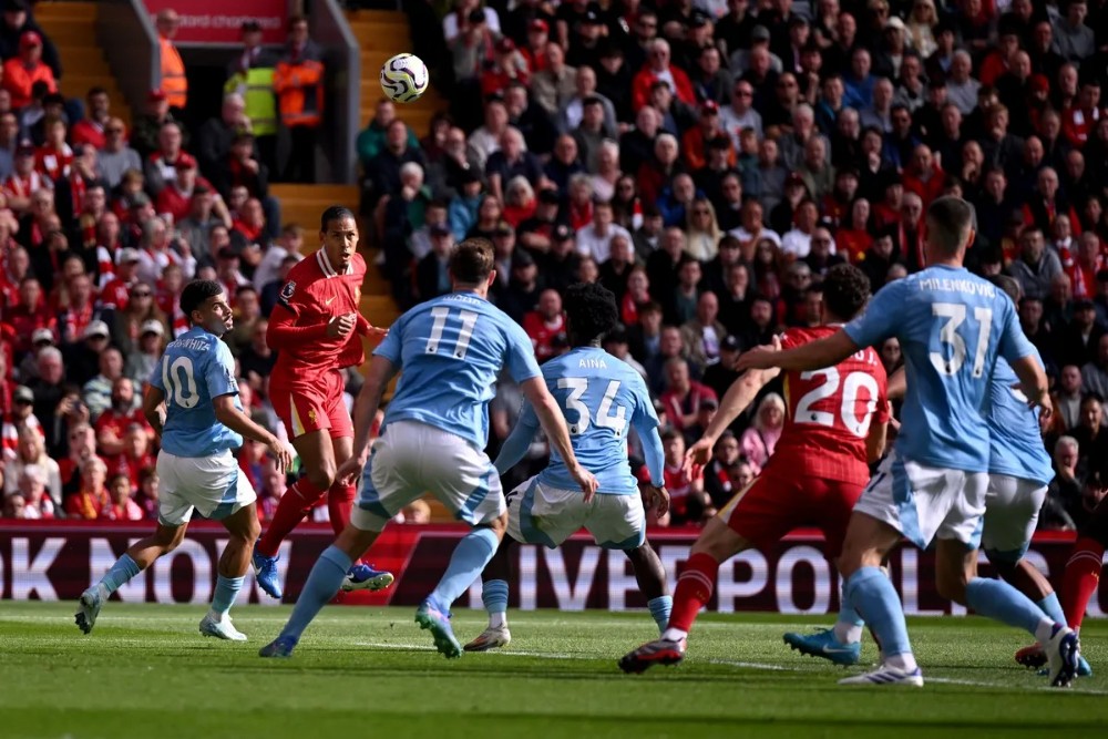
<path id="1" fill-rule="evenodd" d="M 360 254 L 355 254 L 346 273 L 339 274 L 324 249 L 289 270 L 266 336 L 267 343 L 277 352 L 271 384 L 314 383 L 329 371 L 366 361 L 361 331 L 368 321 L 359 312 L 365 277 L 366 260 Z M 328 321 L 350 312 L 359 314 L 355 330 L 345 337 L 328 337 Z"/>

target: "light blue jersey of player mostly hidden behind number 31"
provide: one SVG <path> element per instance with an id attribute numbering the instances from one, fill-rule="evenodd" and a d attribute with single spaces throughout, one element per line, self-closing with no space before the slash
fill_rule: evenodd
<path id="1" fill-rule="evenodd" d="M 1043 358 L 1035 352 L 1039 366 Z M 1038 425 L 1038 409 L 1027 407 L 1019 391 L 1019 378 L 1004 359 L 988 386 L 985 420 L 988 422 L 988 471 L 1049 485 L 1054 480 L 1050 455 L 1046 453 Z"/>

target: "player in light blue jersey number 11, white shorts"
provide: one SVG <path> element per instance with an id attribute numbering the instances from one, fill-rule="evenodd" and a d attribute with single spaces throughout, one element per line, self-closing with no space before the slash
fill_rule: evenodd
<path id="1" fill-rule="evenodd" d="M 596 479 L 573 453 L 531 339 L 488 300 L 496 278 L 494 264 L 488 240 L 462 242 L 450 256 L 454 291 L 401 316 L 373 352 L 355 407 L 355 455 L 336 478 L 349 480 L 362 472 L 358 505 L 350 524 L 311 568 L 288 624 L 260 656 L 290 656 L 304 629 L 338 592 L 350 563 L 365 554 L 392 516 L 425 492 L 473 526 L 454 548 L 438 587 L 416 612 L 416 622 L 431 630 L 440 653 L 461 656 L 450 606 L 489 564 L 507 523 L 500 475 L 483 451 L 489 442 L 489 401 L 502 368 L 535 408 L 574 483 L 587 499 L 595 494 Z M 398 371 L 400 381 L 370 454 L 373 415 Z"/>

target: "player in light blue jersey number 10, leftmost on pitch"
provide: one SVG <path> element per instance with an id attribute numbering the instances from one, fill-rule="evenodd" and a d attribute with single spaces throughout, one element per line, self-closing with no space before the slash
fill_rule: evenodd
<path id="1" fill-rule="evenodd" d="M 220 338 L 234 321 L 223 286 L 214 280 L 189 283 L 181 294 L 181 310 L 191 328 L 165 348 L 143 398 L 143 414 L 162 439 L 157 530 L 132 544 L 81 594 L 76 625 L 85 634 L 92 632 L 112 593 L 184 541 L 196 510 L 220 521 L 230 534 L 201 634 L 245 642 L 227 614 L 243 587 L 260 526 L 254 489 L 232 450 L 243 445 L 243 437 L 258 441 L 268 447 L 281 472 L 293 462 L 293 452 L 243 412 L 235 360 Z"/>

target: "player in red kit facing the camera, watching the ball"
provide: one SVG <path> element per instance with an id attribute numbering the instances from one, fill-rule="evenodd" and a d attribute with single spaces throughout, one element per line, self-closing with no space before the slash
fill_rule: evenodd
<path id="1" fill-rule="evenodd" d="M 353 423 L 342 393 L 342 370 L 366 360 L 361 337 L 380 339 L 359 312 L 366 260 L 358 254 L 358 222 L 341 206 L 324 212 L 320 248 L 288 273 L 269 317 L 266 342 L 277 351 L 269 377 L 269 400 L 285 424 L 304 474 L 281 496 L 265 535 L 254 548 L 258 586 L 281 597 L 277 551 L 281 541 L 326 494 L 331 526 L 342 533 L 357 489 L 335 479 L 353 453 Z M 346 591 L 381 589 L 392 575 L 356 563 Z"/>

